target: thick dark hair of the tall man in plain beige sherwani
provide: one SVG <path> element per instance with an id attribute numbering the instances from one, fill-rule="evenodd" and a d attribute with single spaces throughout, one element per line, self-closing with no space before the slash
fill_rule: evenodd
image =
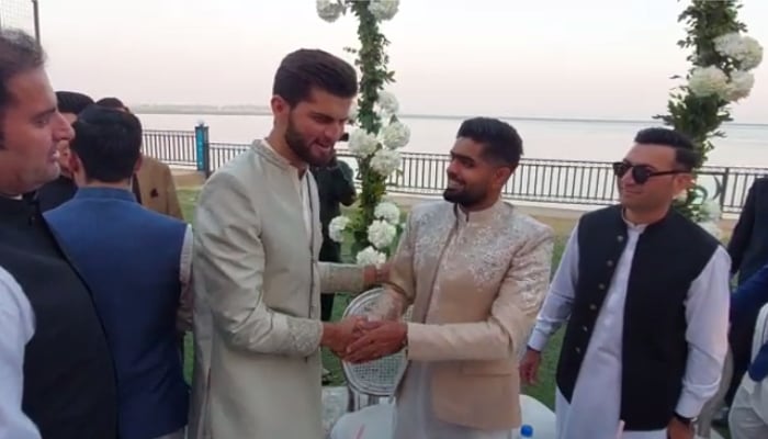
<path id="1" fill-rule="evenodd" d="M 272 94 L 294 106 L 306 101 L 313 89 L 353 98 L 358 94 L 358 74 L 349 63 L 324 50 L 302 48 L 286 55 L 274 75 Z"/>

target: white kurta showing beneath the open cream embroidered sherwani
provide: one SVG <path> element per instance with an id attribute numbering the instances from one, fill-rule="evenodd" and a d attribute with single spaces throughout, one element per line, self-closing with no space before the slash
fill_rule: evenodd
<path id="1" fill-rule="evenodd" d="M 440 263 L 441 270 L 434 281 L 434 291 L 429 302 L 427 324 L 434 324 L 434 315 L 440 303 L 440 277 L 451 270 L 452 255 L 460 255 L 456 243 L 466 232 L 466 219 L 458 216 L 456 233 L 452 235 Z M 438 419 L 432 409 L 431 365 L 426 361 L 411 361 L 403 382 L 395 410 L 395 432 L 393 439 L 512 439 L 512 431 L 484 431 Z"/>

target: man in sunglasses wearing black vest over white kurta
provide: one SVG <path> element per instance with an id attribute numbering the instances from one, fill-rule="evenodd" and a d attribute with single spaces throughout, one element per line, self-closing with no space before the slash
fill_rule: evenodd
<path id="1" fill-rule="evenodd" d="M 725 249 L 671 209 L 698 156 L 681 134 L 637 133 L 613 164 L 621 205 L 584 215 L 563 254 L 520 371 L 567 320 L 557 367 L 561 439 L 690 439 L 718 391 L 729 324 Z"/>

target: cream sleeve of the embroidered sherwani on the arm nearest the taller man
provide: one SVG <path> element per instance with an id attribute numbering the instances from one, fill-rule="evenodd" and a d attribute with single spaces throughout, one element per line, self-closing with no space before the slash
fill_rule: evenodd
<path id="1" fill-rule="evenodd" d="M 371 319 L 398 319 L 414 303 L 416 278 L 414 275 L 414 229 L 413 216 L 408 217 L 400 235 L 395 255 L 389 261 L 389 279 L 384 284 L 384 293 L 369 313 Z"/>

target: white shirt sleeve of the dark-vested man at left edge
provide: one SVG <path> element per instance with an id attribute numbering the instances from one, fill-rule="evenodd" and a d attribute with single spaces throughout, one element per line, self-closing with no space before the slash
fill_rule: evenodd
<path id="1" fill-rule="evenodd" d="M 0 439 L 39 439 L 21 409 L 24 347 L 34 334 L 32 305 L 11 274 L 0 268 Z"/>

